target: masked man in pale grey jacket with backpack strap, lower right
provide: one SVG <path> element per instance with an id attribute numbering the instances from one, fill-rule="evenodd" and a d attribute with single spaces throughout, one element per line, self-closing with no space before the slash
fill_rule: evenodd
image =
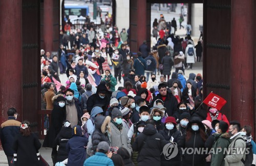
<path id="1" fill-rule="evenodd" d="M 228 127 L 228 134 L 230 136 L 230 144 L 228 148 L 246 148 L 245 141 L 239 132 L 241 131 L 241 125 L 237 121 L 231 121 Z M 245 161 L 246 153 L 236 153 L 237 151 L 231 151 L 224 158 L 225 165 L 244 165 L 243 161 Z"/>

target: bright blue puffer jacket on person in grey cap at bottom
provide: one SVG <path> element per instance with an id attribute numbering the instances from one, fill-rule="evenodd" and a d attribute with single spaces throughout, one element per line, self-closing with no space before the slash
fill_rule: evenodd
<path id="1" fill-rule="evenodd" d="M 90 165 L 90 166 L 98 166 L 98 165 L 108 165 L 114 166 L 112 159 L 106 156 L 104 153 L 96 152 L 95 155 L 89 157 L 86 161 L 84 161 L 83 166 Z"/>

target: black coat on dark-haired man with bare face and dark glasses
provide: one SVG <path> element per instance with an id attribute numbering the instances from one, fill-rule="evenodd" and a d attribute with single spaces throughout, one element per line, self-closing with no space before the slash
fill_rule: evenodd
<path id="1" fill-rule="evenodd" d="M 160 100 L 163 101 L 162 96 L 161 96 L 160 93 L 159 93 L 159 94 L 153 99 L 153 101 L 151 102 L 151 106 L 152 106 L 152 107 L 153 107 L 153 105 L 154 105 L 154 102 L 155 102 L 157 99 L 160 99 Z M 174 97 L 174 95 L 172 94 L 172 92 L 168 92 L 168 91 L 167 91 L 166 98 L 165 98 L 165 100 L 164 100 L 164 102 L 163 102 L 163 106 L 166 108 L 165 113 L 167 113 L 168 116 L 173 116 L 173 114 L 176 112 L 176 110 L 178 110 L 177 105 L 178 105 L 178 101 L 177 101 L 176 97 Z"/>

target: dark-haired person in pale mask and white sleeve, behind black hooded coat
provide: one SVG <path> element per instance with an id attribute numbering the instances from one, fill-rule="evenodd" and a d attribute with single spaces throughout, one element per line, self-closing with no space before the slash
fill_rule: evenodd
<path id="1" fill-rule="evenodd" d="M 141 101 L 143 101 L 143 100 L 141 100 Z M 139 121 L 146 122 L 148 119 L 150 119 L 150 108 L 148 108 L 146 105 L 140 106 L 139 107 L 139 116 L 140 116 L 140 119 L 138 121 L 136 121 L 135 123 L 133 123 L 133 125 L 130 127 L 130 129 L 128 131 L 128 137 L 130 140 L 133 136 L 133 133 L 136 132 L 136 130 L 137 130 L 137 123 Z"/>

